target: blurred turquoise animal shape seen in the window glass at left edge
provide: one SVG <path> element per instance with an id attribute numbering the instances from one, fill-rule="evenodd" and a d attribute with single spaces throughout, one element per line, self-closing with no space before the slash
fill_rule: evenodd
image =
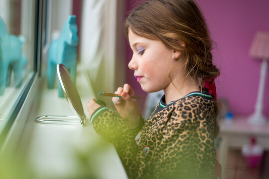
<path id="1" fill-rule="evenodd" d="M 3 19 L 0 16 L 0 95 L 10 86 L 13 71 L 15 86 L 19 87 L 22 81 L 22 70 L 26 57 L 22 54 L 24 38 L 9 35 Z"/>

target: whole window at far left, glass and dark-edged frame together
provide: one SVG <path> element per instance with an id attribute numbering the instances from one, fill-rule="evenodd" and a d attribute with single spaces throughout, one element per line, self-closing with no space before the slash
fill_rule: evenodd
<path id="1" fill-rule="evenodd" d="M 39 72 L 42 0 L 0 0 L 0 148 Z"/>

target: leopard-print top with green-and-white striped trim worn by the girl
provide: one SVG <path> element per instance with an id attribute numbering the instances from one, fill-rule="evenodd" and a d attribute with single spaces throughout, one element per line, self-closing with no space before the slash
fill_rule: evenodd
<path id="1" fill-rule="evenodd" d="M 212 179 L 216 150 L 211 95 L 195 91 L 168 105 L 164 101 L 165 96 L 137 130 L 105 107 L 91 120 L 96 132 L 114 144 L 130 179 Z"/>

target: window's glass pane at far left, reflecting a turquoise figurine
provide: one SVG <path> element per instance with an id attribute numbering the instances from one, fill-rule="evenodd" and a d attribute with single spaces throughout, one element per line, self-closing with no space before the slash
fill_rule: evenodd
<path id="1" fill-rule="evenodd" d="M 33 73 L 36 0 L 0 0 L 0 132 Z"/>

